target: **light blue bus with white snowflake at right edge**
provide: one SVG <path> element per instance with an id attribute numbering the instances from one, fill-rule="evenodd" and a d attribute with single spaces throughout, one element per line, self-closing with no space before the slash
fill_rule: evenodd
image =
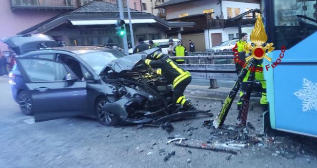
<path id="1" fill-rule="evenodd" d="M 317 137 L 317 0 L 261 0 L 261 8 L 275 47 L 263 61 L 264 129 Z"/>

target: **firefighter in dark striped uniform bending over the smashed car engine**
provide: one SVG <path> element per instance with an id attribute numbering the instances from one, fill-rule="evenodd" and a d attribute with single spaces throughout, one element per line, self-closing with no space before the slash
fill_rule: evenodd
<path id="1" fill-rule="evenodd" d="M 142 58 L 143 62 L 153 69 L 157 69 L 158 75 L 164 75 L 170 84 L 173 84 L 174 103 L 183 106 L 184 111 L 196 111 L 191 102 L 185 98 L 184 91 L 187 85 L 192 81 L 191 74 L 180 68 L 168 55 L 164 55 L 160 51 L 156 51 L 149 59 Z"/>

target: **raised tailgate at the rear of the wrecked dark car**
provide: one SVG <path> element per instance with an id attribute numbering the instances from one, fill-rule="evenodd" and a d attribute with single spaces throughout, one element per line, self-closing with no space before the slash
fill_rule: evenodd
<path id="1" fill-rule="evenodd" d="M 3 38 L 1 41 L 6 43 L 17 55 L 39 50 L 44 47 L 58 46 L 57 42 L 52 37 L 43 34 L 18 35 Z"/>

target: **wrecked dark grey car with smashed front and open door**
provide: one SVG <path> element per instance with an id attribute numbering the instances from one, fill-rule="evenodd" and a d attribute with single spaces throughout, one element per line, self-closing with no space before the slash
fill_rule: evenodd
<path id="1" fill-rule="evenodd" d="M 141 62 L 157 49 L 126 56 L 102 46 L 57 47 L 45 35 L 3 41 L 18 55 L 13 97 L 36 122 L 95 114 L 104 125 L 145 123 L 172 112 L 172 86 Z"/>

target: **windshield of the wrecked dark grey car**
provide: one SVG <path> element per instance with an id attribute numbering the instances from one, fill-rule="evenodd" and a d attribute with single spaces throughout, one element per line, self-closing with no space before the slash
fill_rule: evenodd
<path id="1" fill-rule="evenodd" d="M 83 61 L 85 61 L 97 74 L 112 60 L 126 56 L 116 50 L 110 51 L 98 51 L 93 53 L 86 53 L 78 55 Z"/>

